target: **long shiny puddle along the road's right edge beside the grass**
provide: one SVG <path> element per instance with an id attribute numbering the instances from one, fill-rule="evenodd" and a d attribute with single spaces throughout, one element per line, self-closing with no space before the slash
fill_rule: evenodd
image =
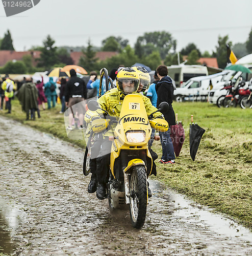
<path id="1" fill-rule="evenodd" d="M 252 243 L 252 232 L 242 225 L 237 224 L 235 221 L 224 217 L 224 215 L 213 212 L 206 206 L 196 204 L 183 195 L 175 193 L 171 189 L 165 188 L 161 183 L 155 180 L 150 180 L 150 189 L 153 191 L 153 197 L 163 198 L 173 202 L 170 205 L 174 216 L 182 218 L 188 222 L 202 222 L 217 234 L 229 237 L 241 237 Z"/>

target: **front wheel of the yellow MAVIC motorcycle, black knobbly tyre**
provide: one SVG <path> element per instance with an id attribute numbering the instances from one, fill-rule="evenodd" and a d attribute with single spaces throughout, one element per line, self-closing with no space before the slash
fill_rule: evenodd
<path id="1" fill-rule="evenodd" d="M 131 224 L 135 228 L 141 228 L 147 210 L 147 177 L 142 165 L 136 165 L 131 174 L 130 193 Z"/>

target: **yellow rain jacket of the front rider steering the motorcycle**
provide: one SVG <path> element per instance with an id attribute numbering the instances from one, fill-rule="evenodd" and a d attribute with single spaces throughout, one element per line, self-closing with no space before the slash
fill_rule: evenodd
<path id="1" fill-rule="evenodd" d="M 150 99 L 142 94 L 139 94 L 143 98 L 143 103 L 146 109 L 146 113 L 149 116 L 153 112 L 157 111 L 157 108 L 150 102 Z M 121 93 L 117 88 L 113 88 L 106 92 L 103 96 L 101 96 L 97 102 L 99 103 L 100 108 L 106 110 L 110 116 L 115 116 L 119 119 L 119 115 L 121 112 L 121 106 L 124 99 L 124 94 Z M 86 123 L 91 123 L 93 117 L 101 117 L 104 114 L 104 111 L 90 111 L 88 110 L 85 114 Z M 103 117 L 102 117 L 103 118 Z M 154 114 L 154 118 L 164 118 L 161 112 L 157 112 Z M 109 132 L 109 133 L 108 133 Z M 112 131 L 106 132 L 105 136 L 112 136 Z"/>

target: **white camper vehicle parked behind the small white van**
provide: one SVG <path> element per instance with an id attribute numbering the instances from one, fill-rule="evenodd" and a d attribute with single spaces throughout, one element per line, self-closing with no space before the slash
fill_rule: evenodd
<path id="1" fill-rule="evenodd" d="M 184 82 L 196 76 L 208 76 L 208 69 L 206 66 L 200 65 L 171 65 L 168 66 L 168 76 L 170 76 L 179 88 Z"/>

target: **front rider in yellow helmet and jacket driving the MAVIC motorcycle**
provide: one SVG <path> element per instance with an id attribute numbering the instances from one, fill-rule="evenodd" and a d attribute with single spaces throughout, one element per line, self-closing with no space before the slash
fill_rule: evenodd
<path id="1" fill-rule="evenodd" d="M 125 95 L 137 92 L 139 80 L 139 74 L 134 69 L 121 69 L 116 77 L 116 88 L 109 90 L 97 100 L 100 108 L 106 110 L 110 116 L 114 116 L 118 120 Z M 149 98 L 143 95 L 142 98 L 148 116 L 157 111 L 157 108 L 152 105 Z M 104 111 L 88 110 L 85 115 L 85 121 L 92 124 L 92 121 L 100 117 L 104 117 Z M 160 112 L 156 112 L 154 118 L 163 118 L 163 115 Z M 112 145 L 112 142 L 109 141 L 109 136 L 111 135 L 113 135 L 113 129 L 100 135 L 100 138 L 95 141 L 96 145 L 93 145 L 91 149 L 90 169 L 92 176 L 88 185 L 88 192 L 94 193 L 96 191 L 96 197 L 101 200 L 105 198 L 106 183 L 109 177 L 110 152 Z M 94 150 L 93 147 L 95 147 Z"/>

